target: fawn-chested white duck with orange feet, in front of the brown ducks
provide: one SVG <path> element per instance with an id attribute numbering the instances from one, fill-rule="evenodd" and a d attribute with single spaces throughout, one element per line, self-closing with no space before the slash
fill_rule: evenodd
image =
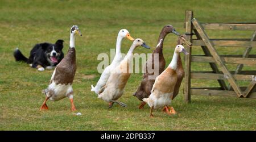
<path id="1" fill-rule="evenodd" d="M 171 63 L 158 77 L 156 77 L 150 96 L 142 99 L 148 106 L 150 106 L 150 117 L 153 117 L 153 109 L 160 107 L 164 107 L 163 111 L 167 112 L 167 114 L 176 114 L 174 108 L 169 105 L 177 83 L 177 60 L 179 59 L 181 52 L 185 55 L 189 54 L 185 51 L 183 45 L 176 45 Z"/>

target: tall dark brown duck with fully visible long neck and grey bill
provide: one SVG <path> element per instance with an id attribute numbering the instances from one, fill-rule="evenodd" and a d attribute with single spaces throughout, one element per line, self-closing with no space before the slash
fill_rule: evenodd
<path id="1" fill-rule="evenodd" d="M 155 78 L 164 71 L 164 68 L 166 66 L 166 60 L 164 59 L 163 55 L 163 43 L 165 37 L 170 33 L 173 33 L 177 36 L 180 35 L 179 32 L 177 32 L 172 25 L 168 24 L 164 26 L 162 28 L 162 31 L 160 32 L 160 35 L 158 37 L 158 44 L 156 45 L 156 48 L 153 51 L 152 56 L 148 58 L 146 64 L 144 65 L 144 70 L 146 70 L 146 72 L 143 73 L 142 81 L 138 86 L 137 91 L 133 94 L 133 96 L 137 97 L 139 101 L 142 101 L 143 98 L 147 98 L 150 95 L 152 86 L 154 85 L 155 82 Z M 154 69 L 154 59 L 155 57 L 157 57 L 156 55 L 158 55 L 158 73 L 150 73 L 148 72 L 148 66 L 150 66 L 150 68 L 152 66 L 152 68 Z M 146 105 L 146 103 L 142 101 L 141 105 L 139 105 L 139 109 L 143 109 L 144 105 Z"/>

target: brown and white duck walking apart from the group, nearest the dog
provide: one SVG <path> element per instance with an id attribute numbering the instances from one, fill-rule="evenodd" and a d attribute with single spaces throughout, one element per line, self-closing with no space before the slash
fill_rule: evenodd
<path id="1" fill-rule="evenodd" d="M 60 61 L 52 73 L 51 80 L 47 89 L 43 90 L 46 99 L 40 110 L 48 110 L 46 102 L 59 101 L 68 97 L 71 101 L 71 110 L 75 111 L 76 107 L 73 103 L 73 88 L 72 83 L 76 73 L 76 49 L 75 49 L 75 35 L 82 36 L 79 27 L 74 25 L 71 27 L 69 49 L 67 55 Z"/>

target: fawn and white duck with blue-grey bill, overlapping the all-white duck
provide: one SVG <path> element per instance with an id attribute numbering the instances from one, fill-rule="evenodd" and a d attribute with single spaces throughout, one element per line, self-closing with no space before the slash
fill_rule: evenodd
<path id="1" fill-rule="evenodd" d="M 119 64 L 110 74 L 104 91 L 98 95 L 98 98 L 109 102 L 109 108 L 112 108 L 114 103 L 123 107 L 127 106 L 125 103 L 122 103 L 117 99 L 123 95 L 123 90 L 131 75 L 131 68 L 129 68 L 129 65 L 132 65 L 130 62 L 133 62 L 133 52 L 138 46 L 142 46 L 147 49 L 150 48 L 142 39 L 135 39 L 126 56 L 121 61 L 121 64 Z"/>

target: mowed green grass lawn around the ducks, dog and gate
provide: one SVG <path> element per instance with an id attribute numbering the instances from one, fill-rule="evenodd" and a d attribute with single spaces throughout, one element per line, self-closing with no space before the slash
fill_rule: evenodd
<path id="1" fill-rule="evenodd" d="M 120 101 L 128 107 L 97 98 L 90 91 L 100 78 L 97 72 L 100 53 L 110 54 L 121 28 L 141 38 L 151 49 L 137 48 L 136 53 L 151 53 L 162 27 L 172 24 L 184 33 L 185 10 L 193 10 L 200 22 L 256 22 L 256 2 L 251 1 L 2 1 L 0 0 L 0 130 L 255 130 L 255 99 L 192 96 L 183 101 L 183 86 L 172 101 L 177 115 L 160 110 L 149 117 L 150 108 L 138 109 L 133 97 L 142 74 L 131 74 Z M 63 39 L 64 53 L 69 47 L 69 30 L 77 24 L 82 32 L 76 38 L 77 72 L 73 82 L 77 111 L 70 111 L 68 98 L 48 101 L 49 110 L 39 111 L 53 70 L 38 72 L 15 62 L 13 51 L 19 47 L 27 57 L 36 43 L 55 43 Z M 207 31 L 211 38 L 250 38 L 253 31 Z M 164 57 L 171 61 L 177 36 L 164 41 Z M 131 41 L 124 39 L 122 52 Z M 245 48 L 217 47 L 221 54 L 242 54 Z M 251 52 L 256 54 L 256 50 Z M 193 54 L 203 54 L 199 47 Z M 182 55 L 183 56 L 183 55 Z M 184 63 L 184 60 L 183 60 Z M 246 66 L 245 70 L 256 70 Z M 228 65 L 234 70 L 236 65 Z M 210 71 L 208 64 L 192 64 L 192 70 Z M 247 85 L 247 82 L 240 82 Z M 192 80 L 192 86 L 218 86 L 213 80 Z M 75 115 L 81 112 L 82 115 Z"/>

